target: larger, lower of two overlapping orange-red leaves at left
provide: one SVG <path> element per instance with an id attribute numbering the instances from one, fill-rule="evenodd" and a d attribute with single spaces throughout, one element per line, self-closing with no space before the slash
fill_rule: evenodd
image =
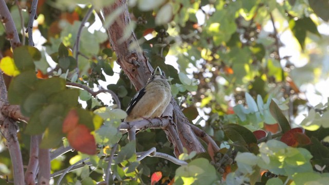
<path id="1" fill-rule="evenodd" d="M 90 134 L 88 127 L 83 124 L 79 124 L 74 130 L 69 131 L 67 140 L 77 151 L 88 155 L 97 153 L 95 138 Z"/>

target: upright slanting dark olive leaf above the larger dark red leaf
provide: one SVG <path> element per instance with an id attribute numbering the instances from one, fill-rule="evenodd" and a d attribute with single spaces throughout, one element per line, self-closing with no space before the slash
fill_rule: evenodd
<path id="1" fill-rule="evenodd" d="M 270 110 L 270 113 L 273 116 L 273 118 L 276 119 L 277 122 L 280 124 L 283 133 L 285 133 L 291 129 L 287 118 L 283 115 L 281 109 L 276 104 L 276 102 L 274 102 L 273 100 L 271 101 L 271 103 L 269 105 L 269 110 Z"/>

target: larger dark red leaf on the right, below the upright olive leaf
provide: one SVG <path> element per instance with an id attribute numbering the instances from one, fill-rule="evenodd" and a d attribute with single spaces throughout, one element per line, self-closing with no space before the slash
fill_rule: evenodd
<path id="1" fill-rule="evenodd" d="M 307 138 L 305 138 L 304 136 L 301 136 L 304 135 L 303 134 L 304 130 L 303 128 L 293 128 L 291 130 L 289 130 L 288 132 L 284 133 L 283 136 L 281 137 L 280 141 L 286 143 L 288 146 L 297 146 L 300 142 L 302 142 L 301 144 L 304 144 L 304 143 L 310 143 L 310 140 L 309 142 L 307 141 Z"/>

